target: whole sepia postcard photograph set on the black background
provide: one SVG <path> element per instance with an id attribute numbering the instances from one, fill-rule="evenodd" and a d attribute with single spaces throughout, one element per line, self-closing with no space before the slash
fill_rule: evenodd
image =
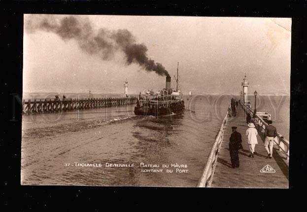
<path id="1" fill-rule="evenodd" d="M 289 188 L 291 18 L 23 18 L 21 185 Z"/>

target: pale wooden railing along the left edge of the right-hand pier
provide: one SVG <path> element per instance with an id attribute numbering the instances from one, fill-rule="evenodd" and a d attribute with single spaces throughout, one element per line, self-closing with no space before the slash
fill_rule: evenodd
<path id="1" fill-rule="evenodd" d="M 206 187 L 207 185 L 210 185 L 213 179 L 213 174 L 216 166 L 216 160 L 218 157 L 218 152 L 221 147 L 221 143 L 224 138 L 224 130 L 226 127 L 226 123 L 228 121 L 228 111 L 226 113 L 225 118 L 223 119 L 223 122 L 221 124 L 221 128 L 215 137 L 215 141 L 213 143 L 213 146 L 211 148 L 209 157 L 207 159 L 205 169 L 203 171 L 202 177 L 200 178 L 197 187 Z"/>

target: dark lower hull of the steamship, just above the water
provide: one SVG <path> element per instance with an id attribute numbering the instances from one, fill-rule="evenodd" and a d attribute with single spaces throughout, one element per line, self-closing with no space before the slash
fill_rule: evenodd
<path id="1" fill-rule="evenodd" d="M 135 107 L 136 115 L 153 115 L 153 116 L 162 116 L 170 115 L 172 113 L 182 113 L 184 111 L 184 104 L 179 106 L 164 107 L 164 108 L 150 108 L 143 106 Z"/>

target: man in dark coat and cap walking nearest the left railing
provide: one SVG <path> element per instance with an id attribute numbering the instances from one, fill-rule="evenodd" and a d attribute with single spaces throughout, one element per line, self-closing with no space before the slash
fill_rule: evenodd
<path id="1" fill-rule="evenodd" d="M 238 168 L 239 163 L 239 146 L 242 143 L 242 137 L 241 134 L 237 132 L 237 127 L 231 127 L 233 133 L 231 134 L 229 138 L 229 153 L 230 153 L 230 159 L 231 159 L 231 167 Z"/>

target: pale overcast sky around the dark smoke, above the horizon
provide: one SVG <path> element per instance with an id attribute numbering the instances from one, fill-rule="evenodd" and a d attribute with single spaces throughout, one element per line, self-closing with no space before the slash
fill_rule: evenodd
<path id="1" fill-rule="evenodd" d="M 50 20 L 63 18 L 48 15 Z M 52 16 L 52 17 L 51 17 Z M 25 15 L 25 26 L 40 15 Z M 179 62 L 184 94 L 239 94 L 246 72 L 249 93 L 290 94 L 291 19 L 173 16 L 74 16 L 88 18 L 93 30 L 127 29 L 143 43 L 148 58 L 161 63 L 172 77 Z M 165 76 L 127 65 L 118 51 L 103 60 L 46 30 L 24 31 L 24 92 L 114 93 L 165 87 Z"/>

